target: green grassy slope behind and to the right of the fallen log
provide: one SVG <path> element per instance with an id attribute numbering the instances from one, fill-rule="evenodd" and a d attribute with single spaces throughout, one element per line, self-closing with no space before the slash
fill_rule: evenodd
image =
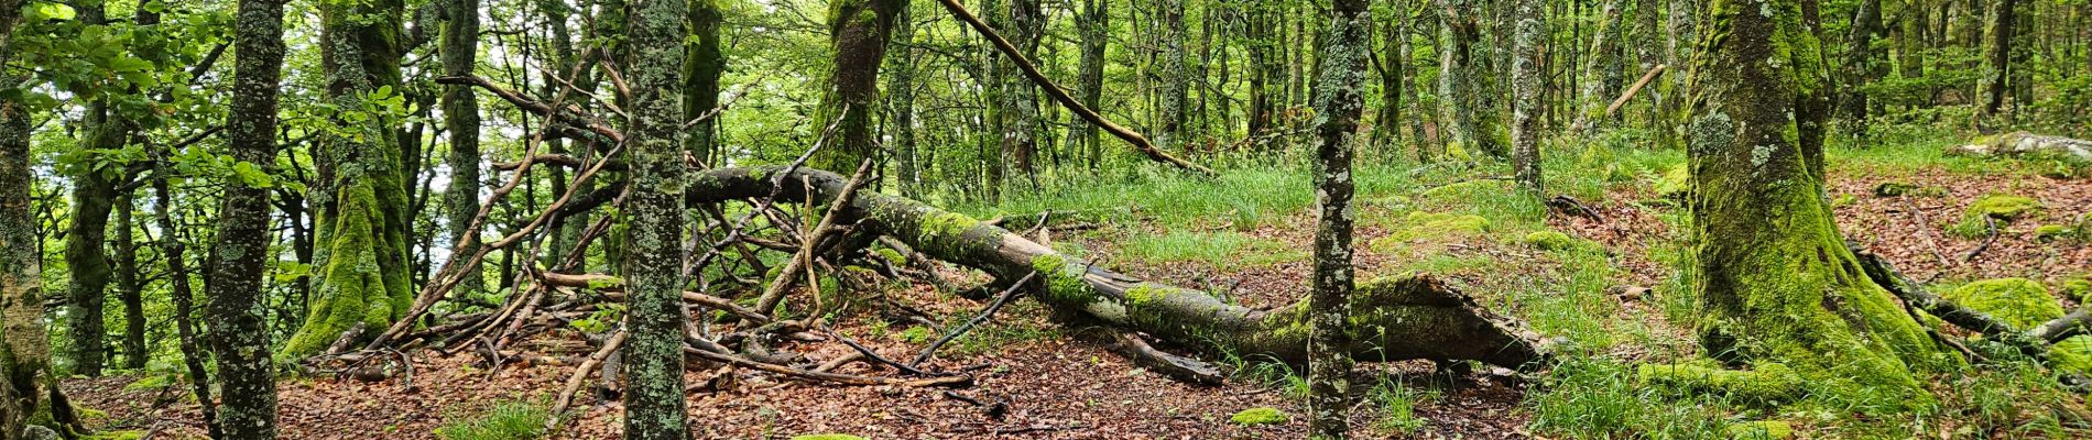
<path id="1" fill-rule="evenodd" d="M 1943 156 L 1943 140 L 1889 136 L 1889 148 L 1833 148 L 1833 175 L 1895 177 L 1910 173 L 1996 175 L 2033 173 L 2023 163 Z M 1565 361 L 1527 394 L 1533 430 L 1567 438 L 1709 438 L 1738 421 L 1782 419 L 1816 438 L 1847 436 L 2071 436 L 2065 425 L 2084 413 L 2079 396 L 2061 390 L 2054 377 L 2029 363 L 1985 365 L 1956 377 L 1933 377 L 1941 405 L 1914 413 L 1868 413 L 1835 402 L 1743 402 L 1722 396 L 1665 390 L 1634 380 L 1638 363 L 1674 363 L 1695 357 L 1688 332 L 1697 300 L 1690 286 L 1690 248 L 1680 240 L 1686 213 L 1655 196 L 1663 175 L 1678 167 L 1682 152 L 1655 152 L 1598 142 L 1548 150 L 1546 181 L 1554 194 L 1569 194 L 1594 206 L 1634 206 L 1651 213 L 1663 234 L 1646 234 L 1640 246 L 1575 246 L 1540 250 L 1527 234 L 1548 229 L 1546 209 L 1515 194 L 1508 184 L 1483 175 L 1508 175 L 1500 165 L 1416 167 L 1400 158 L 1360 161 L 1362 223 L 1385 227 L 1387 242 L 1362 236 L 1356 246 L 1385 256 L 1377 273 L 1431 271 L 1458 279 L 1485 304 L 1527 319 L 1548 336 L 1561 336 Z M 1000 204 L 958 204 L 977 217 L 1036 215 L 1040 211 L 1090 211 L 1107 215 L 1107 229 L 1092 240 L 1061 242 L 1069 252 L 1084 244 L 1142 265 L 1192 265 L 1222 275 L 1259 265 L 1305 259 L 1305 244 L 1268 238 L 1259 227 L 1308 227 L 1297 221 L 1312 192 L 1301 167 L 1236 167 L 1218 179 L 1190 179 L 1165 171 L 1132 171 L 1040 192 L 1017 192 Z M 1427 215 L 1412 215 L 1427 213 Z M 1431 223 L 1446 215 L 1485 219 L 1479 231 L 1458 231 Z M 1615 219 L 1621 221 L 1621 219 Z M 1454 229 L 1454 231 L 1448 231 Z M 1479 248 L 1479 250 L 1477 250 Z M 1632 267 L 1642 267 L 1636 277 Z M 1653 269 L 1651 269 L 1653 267 Z M 1659 279 L 1648 279 L 1653 275 Z M 1368 273 L 1372 275 L 1372 273 Z M 1651 294 L 1621 300 L 1619 292 L 1653 284 Z M 1255 371 L 1268 367 L 1247 365 Z M 1280 382 L 1295 382 L 1278 371 Z M 1387 430 L 1414 430 L 1408 402 L 1429 394 L 1383 384 L 1374 400 L 1383 405 Z M 2082 421 L 2079 421 L 2082 423 Z"/>

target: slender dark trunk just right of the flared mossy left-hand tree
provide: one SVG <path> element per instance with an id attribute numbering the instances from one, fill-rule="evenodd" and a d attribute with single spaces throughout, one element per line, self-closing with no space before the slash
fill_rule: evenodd
<path id="1" fill-rule="evenodd" d="M 444 0 L 444 44 L 439 48 L 444 75 L 473 75 L 479 63 L 479 0 Z M 444 223 L 450 238 L 464 240 L 462 252 L 450 259 L 471 259 L 479 252 L 479 231 L 467 229 L 479 215 L 479 96 L 473 85 L 448 83 L 439 98 L 444 106 L 444 131 L 450 138 L 450 186 L 444 188 Z M 418 142 L 418 140 L 410 140 Z M 456 267 L 458 290 L 481 292 L 485 277 L 479 265 Z"/>

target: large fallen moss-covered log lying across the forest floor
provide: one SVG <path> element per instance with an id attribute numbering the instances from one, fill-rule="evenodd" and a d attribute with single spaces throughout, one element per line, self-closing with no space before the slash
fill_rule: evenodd
<path id="1" fill-rule="evenodd" d="M 759 198 L 770 194 L 772 181 L 782 181 L 782 198 L 803 200 L 810 192 L 799 177 L 805 177 L 812 196 L 826 202 L 847 184 L 843 175 L 812 169 L 774 179 L 780 171 L 782 167 L 711 169 L 690 181 L 688 200 Z M 941 261 L 1006 279 L 1040 271 L 1044 292 L 1033 298 L 1107 323 L 1238 357 L 1287 363 L 1308 359 L 1305 302 L 1272 311 L 1228 304 L 1207 292 L 1119 275 L 973 217 L 887 194 L 858 194 L 845 213 Z M 1471 359 L 1521 367 L 1546 357 L 1536 334 L 1483 311 L 1429 275 L 1366 282 L 1351 296 L 1351 307 L 1349 352 L 1360 361 Z"/>

